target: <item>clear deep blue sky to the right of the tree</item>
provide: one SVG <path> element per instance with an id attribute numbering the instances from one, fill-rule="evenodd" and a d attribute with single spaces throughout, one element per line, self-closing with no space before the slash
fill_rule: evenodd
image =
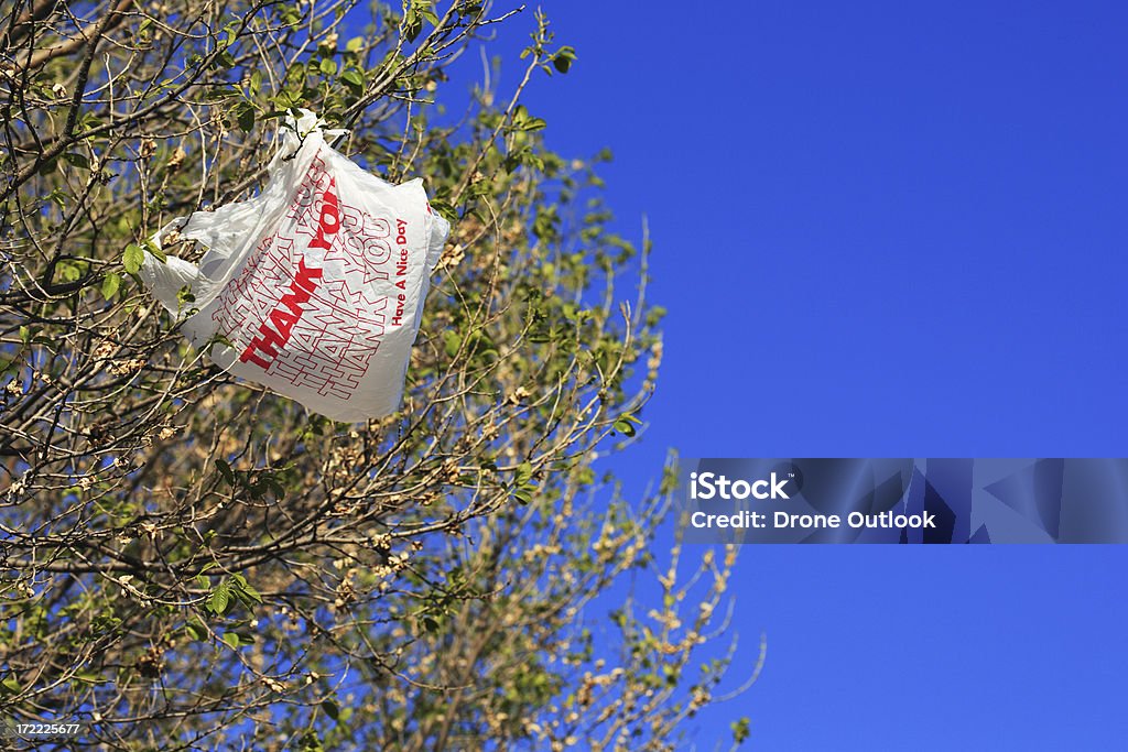
<path id="1" fill-rule="evenodd" d="M 543 7 L 579 61 L 526 103 L 555 150 L 615 152 L 670 310 L 620 475 L 669 446 L 1125 455 L 1128 5 Z M 510 26 L 500 51 L 531 12 Z M 698 740 L 747 714 L 757 750 L 1122 749 L 1126 572 L 1126 547 L 746 547 L 767 669 Z"/>

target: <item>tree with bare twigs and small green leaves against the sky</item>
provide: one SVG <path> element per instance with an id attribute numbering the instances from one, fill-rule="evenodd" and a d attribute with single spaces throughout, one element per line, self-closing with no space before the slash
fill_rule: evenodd
<path id="1" fill-rule="evenodd" d="M 520 104 L 575 60 L 547 20 L 456 117 L 451 67 L 515 10 L 3 8 L 0 713 L 114 750 L 672 749 L 728 665 L 734 552 L 655 557 L 671 469 L 641 499 L 597 475 L 662 311 L 598 160 Z M 367 425 L 237 382 L 135 277 L 167 221 L 262 185 L 299 106 L 453 223 L 403 409 Z M 629 573 L 654 608 L 592 613 Z"/>

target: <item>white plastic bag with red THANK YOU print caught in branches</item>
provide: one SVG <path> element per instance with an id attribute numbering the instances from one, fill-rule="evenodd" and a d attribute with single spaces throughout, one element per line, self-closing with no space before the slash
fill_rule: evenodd
<path id="1" fill-rule="evenodd" d="M 421 179 L 390 185 L 365 172 L 326 143 L 337 133 L 302 110 L 258 196 L 153 238 L 158 248 L 174 231 L 199 241 L 200 265 L 146 254 L 140 276 L 220 368 L 354 422 L 399 408 L 450 228 Z"/>

